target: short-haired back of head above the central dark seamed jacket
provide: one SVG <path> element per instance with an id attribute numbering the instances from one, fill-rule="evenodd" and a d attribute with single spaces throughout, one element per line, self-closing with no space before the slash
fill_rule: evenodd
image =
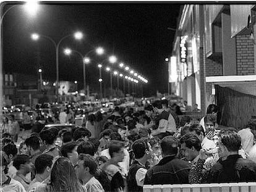
<path id="1" fill-rule="evenodd" d="M 179 141 L 174 136 L 166 136 L 160 142 L 164 156 L 176 156 L 178 152 L 178 145 Z"/>

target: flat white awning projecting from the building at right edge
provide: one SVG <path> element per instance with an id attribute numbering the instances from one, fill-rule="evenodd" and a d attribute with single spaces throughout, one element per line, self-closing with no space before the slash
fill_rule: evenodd
<path id="1" fill-rule="evenodd" d="M 256 75 L 211 76 L 206 77 L 206 82 L 256 96 Z"/>

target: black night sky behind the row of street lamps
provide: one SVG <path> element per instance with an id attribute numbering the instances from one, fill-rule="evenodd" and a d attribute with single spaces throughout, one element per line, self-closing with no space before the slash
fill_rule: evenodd
<path id="1" fill-rule="evenodd" d="M 44 4 L 31 17 L 21 6 L 10 10 L 3 20 L 4 71 L 37 75 L 43 69 L 43 79 L 56 80 L 55 48 L 49 40 L 33 41 L 33 32 L 47 35 L 58 42 L 63 36 L 83 31 L 85 37 L 76 41 L 70 37 L 62 41 L 59 51 L 59 80 L 78 80 L 83 87 L 82 60 L 77 54 L 66 56 L 69 47 L 86 54 L 96 46 L 103 46 L 105 56 L 90 54 L 93 61 L 87 65 L 87 83 L 97 85 L 97 62 L 114 54 L 148 79 L 144 86 L 147 96 L 156 90 L 167 92 L 168 64 L 171 56 L 180 5 L 172 3 L 109 3 L 100 4 Z M 6 10 L 9 6 L 4 7 Z M 107 63 L 105 62 L 105 67 Z M 116 64 L 116 69 L 119 69 Z M 120 71 L 120 70 L 119 70 Z M 103 81 L 109 86 L 109 73 L 103 70 Z M 115 82 L 114 82 L 115 83 Z M 95 88 L 95 89 L 96 89 Z"/>

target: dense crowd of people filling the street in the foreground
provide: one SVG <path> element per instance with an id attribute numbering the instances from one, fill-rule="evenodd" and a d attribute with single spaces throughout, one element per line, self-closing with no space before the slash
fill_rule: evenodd
<path id="1" fill-rule="evenodd" d="M 1 191 L 128 192 L 143 185 L 256 182 L 254 118 L 238 131 L 219 127 L 214 104 L 198 120 L 179 116 L 178 108 L 167 100 L 138 112 L 115 107 L 106 117 L 89 115 L 75 130 L 32 130 L 19 148 L 14 135 L 4 133 Z"/>

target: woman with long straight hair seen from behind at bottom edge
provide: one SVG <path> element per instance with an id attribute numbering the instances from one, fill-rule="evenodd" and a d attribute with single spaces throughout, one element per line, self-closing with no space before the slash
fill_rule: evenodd
<path id="1" fill-rule="evenodd" d="M 87 192 L 79 183 L 75 169 L 66 157 L 56 159 L 50 178 L 50 183 L 39 185 L 35 192 Z"/>

